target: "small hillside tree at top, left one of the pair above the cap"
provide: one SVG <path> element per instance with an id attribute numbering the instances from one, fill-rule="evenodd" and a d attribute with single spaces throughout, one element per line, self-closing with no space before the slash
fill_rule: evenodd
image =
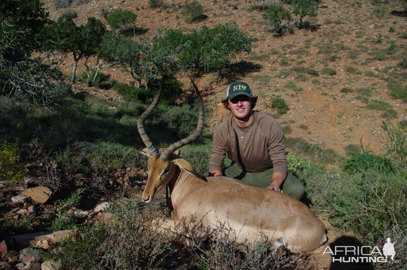
<path id="1" fill-rule="evenodd" d="M 282 36 L 285 33 L 293 32 L 293 27 L 290 24 L 291 14 L 281 4 L 268 6 L 263 17 L 270 21 L 271 31 L 278 33 L 278 35 Z"/>

